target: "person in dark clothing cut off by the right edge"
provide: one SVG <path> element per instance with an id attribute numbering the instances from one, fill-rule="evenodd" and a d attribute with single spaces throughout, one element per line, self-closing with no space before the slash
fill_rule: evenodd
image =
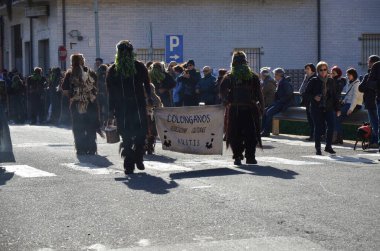
<path id="1" fill-rule="evenodd" d="M 368 58 L 368 62 L 367 62 L 368 73 L 364 76 L 362 82 L 359 85 L 359 91 L 364 93 L 363 95 L 364 106 L 365 106 L 365 109 L 367 109 L 369 122 L 371 123 L 371 127 L 372 127 L 371 142 L 370 142 L 371 147 L 378 147 L 377 141 L 378 141 L 378 133 L 379 133 L 379 117 L 377 114 L 377 107 L 376 107 L 376 92 L 368 88 L 368 76 L 373 64 L 378 61 L 380 61 L 380 57 L 377 55 L 372 55 Z"/>

